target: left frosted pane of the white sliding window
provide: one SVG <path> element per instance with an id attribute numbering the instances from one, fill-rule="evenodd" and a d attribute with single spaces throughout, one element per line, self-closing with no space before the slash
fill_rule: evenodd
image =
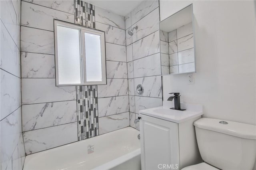
<path id="1" fill-rule="evenodd" d="M 79 30 L 57 26 L 59 84 L 80 84 Z"/>

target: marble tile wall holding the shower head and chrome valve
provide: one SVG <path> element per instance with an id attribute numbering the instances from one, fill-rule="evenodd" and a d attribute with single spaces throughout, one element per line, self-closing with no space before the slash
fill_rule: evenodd
<path id="1" fill-rule="evenodd" d="M 143 1 L 125 17 L 130 126 L 137 129 L 139 124 L 135 125 L 134 119 L 140 110 L 162 105 L 158 5 L 158 0 Z M 130 36 L 128 31 L 136 26 Z M 142 95 L 136 93 L 138 84 L 144 87 Z"/>

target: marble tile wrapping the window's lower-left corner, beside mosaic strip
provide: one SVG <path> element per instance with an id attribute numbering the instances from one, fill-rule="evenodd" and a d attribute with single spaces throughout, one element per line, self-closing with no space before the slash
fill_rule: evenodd
<path id="1" fill-rule="evenodd" d="M 56 86 L 55 79 L 22 79 L 22 104 L 76 99 L 75 86 Z"/>

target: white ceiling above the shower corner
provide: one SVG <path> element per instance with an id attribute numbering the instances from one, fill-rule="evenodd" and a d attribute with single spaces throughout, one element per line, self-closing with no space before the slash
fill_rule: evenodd
<path id="1" fill-rule="evenodd" d="M 126 16 L 143 0 L 86 0 L 90 4 L 104 8 L 121 16 Z"/>

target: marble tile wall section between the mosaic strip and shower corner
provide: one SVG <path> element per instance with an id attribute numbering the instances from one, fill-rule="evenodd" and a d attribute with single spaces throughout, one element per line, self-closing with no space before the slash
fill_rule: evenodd
<path id="1" fill-rule="evenodd" d="M 107 84 L 98 85 L 99 134 L 130 126 L 125 18 L 95 6 L 105 32 Z"/>

